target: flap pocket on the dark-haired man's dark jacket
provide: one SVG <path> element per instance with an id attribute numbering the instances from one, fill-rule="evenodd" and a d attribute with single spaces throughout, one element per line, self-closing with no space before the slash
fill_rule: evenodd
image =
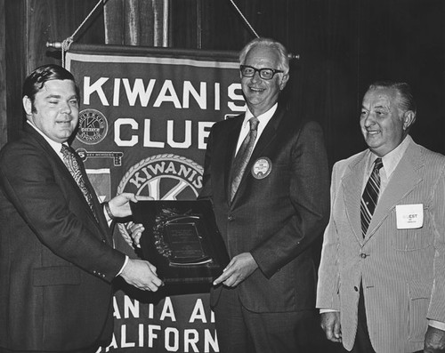
<path id="1" fill-rule="evenodd" d="M 33 285 L 79 285 L 80 269 L 73 266 L 36 268 L 33 271 Z"/>

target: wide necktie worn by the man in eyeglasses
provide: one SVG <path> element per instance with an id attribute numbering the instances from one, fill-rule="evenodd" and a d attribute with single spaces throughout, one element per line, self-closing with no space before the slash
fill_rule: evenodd
<path id="1" fill-rule="evenodd" d="M 259 120 L 255 116 L 249 119 L 250 131 L 247 134 L 246 139 L 243 140 L 243 143 L 239 147 L 237 156 L 235 156 L 235 160 L 233 161 L 231 167 L 231 200 L 233 200 L 233 197 L 239 188 L 239 183 L 241 182 L 241 178 L 246 170 L 247 163 L 252 155 L 252 151 L 254 150 L 256 133 L 258 132 L 258 123 Z"/>

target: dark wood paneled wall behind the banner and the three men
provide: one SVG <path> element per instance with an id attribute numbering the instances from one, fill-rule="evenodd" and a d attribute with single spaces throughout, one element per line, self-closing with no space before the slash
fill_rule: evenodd
<path id="1" fill-rule="evenodd" d="M 164 1 L 169 4 L 171 47 L 238 51 L 255 37 L 229 0 Z M 288 94 L 299 115 L 323 125 L 331 164 L 364 148 L 358 121 L 361 95 L 377 79 L 413 86 L 418 116 L 412 134 L 445 153 L 443 0 L 234 2 L 260 36 L 273 37 L 300 55 L 292 62 Z M 0 0 L 0 147 L 20 130 L 23 77 L 38 65 L 60 62 L 60 52 L 48 50 L 45 42 L 70 36 L 96 3 Z M 138 23 L 154 32 L 154 13 L 146 12 L 163 0 L 147 1 L 143 11 L 141 0 L 108 0 L 106 6 L 117 9 L 108 15 L 125 17 L 116 12 L 128 12 L 132 4 L 139 6 L 133 12 L 140 13 Z M 100 12 L 78 41 L 104 44 L 103 22 Z M 116 21 L 116 26 L 123 24 Z M 140 36 L 139 44 L 151 44 L 144 38 L 153 33 L 144 29 Z"/>

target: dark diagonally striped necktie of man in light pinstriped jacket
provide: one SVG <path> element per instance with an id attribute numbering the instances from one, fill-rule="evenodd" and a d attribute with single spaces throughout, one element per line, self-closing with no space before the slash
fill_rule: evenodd
<path id="1" fill-rule="evenodd" d="M 378 201 L 380 191 L 380 168 L 384 166 L 382 158 L 376 158 L 371 176 L 366 183 L 360 203 L 361 233 L 365 237 L 374 210 Z"/>

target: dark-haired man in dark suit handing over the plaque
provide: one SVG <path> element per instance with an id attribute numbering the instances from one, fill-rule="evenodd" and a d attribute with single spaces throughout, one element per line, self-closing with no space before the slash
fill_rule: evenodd
<path id="1" fill-rule="evenodd" d="M 162 284 L 148 261 L 113 248 L 109 221 L 137 199 L 93 197 L 67 144 L 78 106 L 69 71 L 36 68 L 23 86 L 24 132 L 0 152 L 1 352 L 93 352 L 111 338 L 113 278 L 150 291 Z"/>

